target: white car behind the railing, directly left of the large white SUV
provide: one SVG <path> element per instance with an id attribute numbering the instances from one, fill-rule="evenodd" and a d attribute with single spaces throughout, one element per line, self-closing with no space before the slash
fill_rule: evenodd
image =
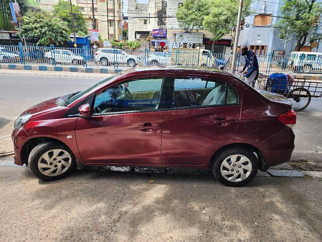
<path id="1" fill-rule="evenodd" d="M 44 56 L 46 56 L 49 60 L 49 63 L 52 63 L 52 61 L 56 63 L 68 63 L 73 65 L 83 65 L 85 62 L 85 59 L 81 55 L 76 55 L 70 50 L 50 50 L 46 53 L 44 53 Z"/>

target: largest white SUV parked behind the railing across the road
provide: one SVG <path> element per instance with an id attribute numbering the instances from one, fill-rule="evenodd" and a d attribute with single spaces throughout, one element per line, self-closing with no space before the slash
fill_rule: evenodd
<path id="1" fill-rule="evenodd" d="M 140 60 L 139 56 L 128 54 L 121 49 L 99 48 L 95 53 L 95 62 L 100 63 L 102 66 L 118 64 L 135 67 L 140 63 Z"/>

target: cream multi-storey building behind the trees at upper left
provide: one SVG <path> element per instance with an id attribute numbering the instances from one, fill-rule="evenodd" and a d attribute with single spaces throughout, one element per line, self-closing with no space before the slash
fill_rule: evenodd
<path id="1" fill-rule="evenodd" d="M 59 0 L 40 0 L 39 6 L 41 9 L 51 12 L 53 5 L 58 2 Z M 81 8 L 88 29 L 93 29 L 92 0 L 71 0 L 71 3 Z M 121 0 L 94 0 L 94 15 L 99 35 L 103 39 L 122 39 Z"/>

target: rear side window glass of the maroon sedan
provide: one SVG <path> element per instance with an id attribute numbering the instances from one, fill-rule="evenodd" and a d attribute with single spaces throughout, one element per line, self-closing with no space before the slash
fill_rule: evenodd
<path id="1" fill-rule="evenodd" d="M 200 78 L 176 78 L 172 108 L 238 103 L 237 93 L 226 84 Z"/>

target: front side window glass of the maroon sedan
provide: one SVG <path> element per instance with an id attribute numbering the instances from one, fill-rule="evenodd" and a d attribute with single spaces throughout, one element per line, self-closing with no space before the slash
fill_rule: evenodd
<path id="1" fill-rule="evenodd" d="M 95 97 L 94 114 L 158 108 L 163 78 L 139 79 L 108 88 Z"/>

